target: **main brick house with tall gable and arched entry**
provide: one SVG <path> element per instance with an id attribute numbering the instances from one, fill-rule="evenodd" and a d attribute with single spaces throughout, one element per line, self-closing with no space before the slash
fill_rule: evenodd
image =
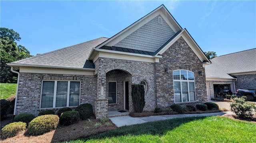
<path id="1" fill-rule="evenodd" d="M 8 63 L 19 69 L 14 114 L 90 103 L 96 118 L 134 111 L 132 84 L 144 84 L 144 111 L 207 101 L 204 55 L 164 5 L 111 38 L 100 37 Z"/>

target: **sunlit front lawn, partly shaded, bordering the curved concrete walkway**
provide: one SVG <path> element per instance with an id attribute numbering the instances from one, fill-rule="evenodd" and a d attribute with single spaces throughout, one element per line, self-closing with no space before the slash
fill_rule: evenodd
<path id="1" fill-rule="evenodd" d="M 224 117 L 193 117 L 119 127 L 66 143 L 255 143 L 256 123 Z"/>

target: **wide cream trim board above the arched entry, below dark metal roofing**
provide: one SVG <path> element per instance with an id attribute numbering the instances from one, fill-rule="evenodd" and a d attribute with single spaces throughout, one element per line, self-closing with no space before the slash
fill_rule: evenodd
<path id="1" fill-rule="evenodd" d="M 123 55 L 118 53 L 109 53 L 109 52 L 100 52 L 99 57 L 109 58 L 109 59 L 120 59 L 120 60 L 129 60 L 129 61 L 140 61 L 148 63 L 159 63 L 158 57 L 139 57 L 134 55 Z"/>

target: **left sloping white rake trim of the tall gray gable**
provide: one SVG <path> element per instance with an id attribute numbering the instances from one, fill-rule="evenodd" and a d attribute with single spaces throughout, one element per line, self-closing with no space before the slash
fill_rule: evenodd
<path id="1" fill-rule="evenodd" d="M 130 30 L 129 33 L 132 33 L 131 31 L 135 31 L 136 29 L 139 29 L 142 25 L 148 23 L 150 20 L 152 20 L 153 18 L 155 18 L 156 16 L 158 16 L 160 14 L 160 8 L 163 8 L 164 6 L 160 6 L 157 9 L 153 10 L 152 12 L 150 12 L 149 14 L 147 14 L 146 16 L 144 16 L 143 18 L 141 18 L 140 20 L 138 20 L 137 22 L 135 22 L 134 24 L 126 27 L 124 30 L 120 31 L 119 33 L 117 33 L 116 35 L 114 35 L 113 37 L 111 37 L 110 39 L 108 39 L 107 41 L 103 42 L 102 44 L 98 45 L 95 49 L 99 49 L 100 47 L 104 46 L 104 45 L 115 45 L 114 43 L 118 43 L 119 41 L 121 41 L 122 39 L 125 38 L 125 36 L 120 36 L 123 33 L 125 33 L 126 31 L 130 30 L 131 28 L 133 28 L 133 30 Z M 158 12 L 157 12 L 158 11 Z M 154 15 L 152 15 L 154 14 Z M 147 20 L 145 20 L 147 19 Z M 144 22 L 142 22 L 144 21 Z M 141 23 L 142 22 L 142 23 Z M 134 27 L 135 25 L 137 25 L 136 27 Z M 130 35 L 130 34 L 126 34 L 126 35 Z M 120 37 L 119 37 L 120 36 Z M 118 38 L 118 39 L 116 39 Z M 115 42 L 112 42 L 112 41 Z M 118 42 L 116 42 L 118 41 Z M 112 43 L 112 44 L 111 44 Z"/>

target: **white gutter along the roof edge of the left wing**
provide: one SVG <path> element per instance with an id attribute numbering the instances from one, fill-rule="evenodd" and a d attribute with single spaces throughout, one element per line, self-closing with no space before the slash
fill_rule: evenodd
<path id="1" fill-rule="evenodd" d="M 89 69 L 89 68 L 57 67 L 57 66 L 28 65 L 28 64 L 15 64 L 15 63 L 8 63 L 7 65 L 11 67 L 37 67 L 37 68 L 48 68 L 48 69 L 72 69 L 72 70 L 82 70 L 82 71 L 95 70 L 95 69 Z"/>

